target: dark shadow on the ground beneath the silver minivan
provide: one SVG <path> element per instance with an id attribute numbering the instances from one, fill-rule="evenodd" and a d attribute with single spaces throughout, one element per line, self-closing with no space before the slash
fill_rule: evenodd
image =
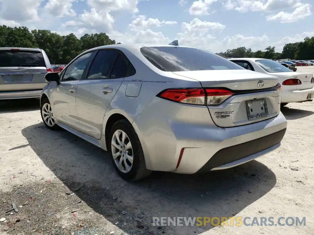
<path id="1" fill-rule="evenodd" d="M 39 99 L 0 100 L 0 113 L 24 112 L 40 109 Z"/>

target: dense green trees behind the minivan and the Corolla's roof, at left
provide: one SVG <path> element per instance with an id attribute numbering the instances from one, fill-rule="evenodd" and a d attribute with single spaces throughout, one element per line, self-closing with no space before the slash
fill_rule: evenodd
<path id="1" fill-rule="evenodd" d="M 27 47 L 45 50 L 51 64 L 68 64 L 75 56 L 93 47 L 116 44 L 107 34 L 74 34 L 61 36 L 50 30 L 32 30 L 25 26 L 0 26 L 0 47 Z"/>

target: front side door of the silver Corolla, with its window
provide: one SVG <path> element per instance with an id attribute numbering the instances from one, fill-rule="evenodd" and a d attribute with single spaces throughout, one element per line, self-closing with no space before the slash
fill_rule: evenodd
<path id="1" fill-rule="evenodd" d="M 54 88 L 57 92 L 52 92 L 50 101 L 53 103 L 53 116 L 58 122 L 78 129 L 79 120 L 76 112 L 76 95 L 78 83 L 81 81 L 89 60 L 93 52 L 84 54 L 74 60 L 67 68 L 62 71 L 60 84 Z"/>

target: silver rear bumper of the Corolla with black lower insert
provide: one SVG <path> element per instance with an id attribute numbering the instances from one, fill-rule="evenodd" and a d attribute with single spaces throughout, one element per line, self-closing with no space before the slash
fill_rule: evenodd
<path id="1" fill-rule="evenodd" d="M 194 174 L 231 168 L 278 148 L 287 127 L 281 112 L 257 123 L 220 128 L 208 119 L 206 108 L 191 108 L 186 121 L 175 105 L 167 112 L 166 105 L 158 106 L 158 112 L 152 107 L 132 123 L 149 170 Z M 169 120 L 172 112 L 176 118 Z"/>

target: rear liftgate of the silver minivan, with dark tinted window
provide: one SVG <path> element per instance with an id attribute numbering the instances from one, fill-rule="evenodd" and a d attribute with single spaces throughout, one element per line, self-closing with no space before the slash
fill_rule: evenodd
<path id="1" fill-rule="evenodd" d="M 0 49 L 0 91 L 41 90 L 47 73 L 39 49 Z"/>

